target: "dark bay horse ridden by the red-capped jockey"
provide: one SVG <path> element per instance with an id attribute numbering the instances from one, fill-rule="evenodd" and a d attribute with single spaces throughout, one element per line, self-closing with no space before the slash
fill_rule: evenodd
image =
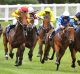
<path id="1" fill-rule="evenodd" d="M 3 32 L 3 43 L 4 43 L 4 49 L 5 49 L 5 57 L 8 59 L 8 52 L 9 56 L 13 58 L 14 53 L 12 53 L 13 48 L 17 48 L 16 52 L 16 66 L 20 66 L 22 64 L 23 60 L 23 53 L 25 49 L 24 44 L 24 33 L 23 33 L 23 26 L 21 24 L 21 21 L 18 21 L 15 28 L 11 29 L 9 32 L 9 36 L 6 35 L 6 30 Z M 9 49 L 8 49 L 8 43 L 9 43 Z"/>

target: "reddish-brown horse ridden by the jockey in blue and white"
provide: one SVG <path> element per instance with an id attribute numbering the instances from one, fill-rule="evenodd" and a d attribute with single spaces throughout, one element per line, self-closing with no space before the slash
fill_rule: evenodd
<path id="1" fill-rule="evenodd" d="M 45 62 L 49 54 L 50 47 L 52 47 L 53 54 L 56 52 L 56 64 L 57 64 L 56 70 L 58 70 L 59 65 L 60 65 L 60 60 L 62 56 L 64 55 L 65 50 L 67 49 L 69 44 L 74 41 L 74 28 L 66 27 L 62 31 L 58 32 L 54 36 L 52 41 L 50 41 L 49 39 L 50 34 L 51 32 L 49 32 L 46 37 L 45 51 L 44 51 L 44 55 L 43 55 L 43 59 L 41 63 Z"/>

